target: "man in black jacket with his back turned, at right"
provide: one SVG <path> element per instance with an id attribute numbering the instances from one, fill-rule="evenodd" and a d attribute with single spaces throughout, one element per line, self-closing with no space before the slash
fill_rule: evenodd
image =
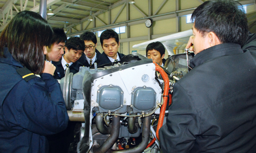
<path id="1" fill-rule="evenodd" d="M 241 8 L 210 0 L 193 12 L 193 69 L 174 84 L 159 131 L 163 152 L 255 152 L 256 62 L 241 49 L 248 36 Z"/>

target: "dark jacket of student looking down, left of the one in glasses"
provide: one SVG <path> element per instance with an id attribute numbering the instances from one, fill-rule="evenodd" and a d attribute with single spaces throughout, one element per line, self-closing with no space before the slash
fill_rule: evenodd
<path id="1" fill-rule="evenodd" d="M 57 62 L 52 61 L 52 64 L 56 67 L 56 70 L 55 70 L 54 76 L 53 76 L 55 79 L 61 79 L 61 78 L 65 77 L 65 73 L 64 73 L 65 71 L 62 67 L 61 59 Z M 70 65 L 69 71 L 70 71 L 70 73 L 76 74 L 77 72 L 79 72 L 80 67 L 83 67 L 83 64 L 81 64 L 77 60 L 76 62 L 74 62 Z"/>

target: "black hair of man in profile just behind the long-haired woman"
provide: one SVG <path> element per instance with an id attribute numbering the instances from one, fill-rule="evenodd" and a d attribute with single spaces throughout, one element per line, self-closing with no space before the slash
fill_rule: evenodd
<path id="1" fill-rule="evenodd" d="M 67 36 L 65 31 L 63 30 L 63 28 L 56 28 L 53 27 L 53 36 L 51 39 L 51 44 L 48 46 L 49 48 L 51 48 L 51 46 L 53 45 L 53 43 L 59 43 L 59 42 L 66 42 L 67 41 Z"/>

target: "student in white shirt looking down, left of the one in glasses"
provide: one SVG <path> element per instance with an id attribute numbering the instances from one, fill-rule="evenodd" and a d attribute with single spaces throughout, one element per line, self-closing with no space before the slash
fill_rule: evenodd
<path id="1" fill-rule="evenodd" d="M 63 57 L 58 62 L 52 62 L 56 67 L 54 78 L 61 79 L 64 77 L 67 67 L 70 69 L 70 73 L 76 74 L 79 72 L 79 67 L 82 67 L 83 64 L 78 60 L 82 56 L 84 49 L 84 42 L 81 38 L 69 38 L 65 46 L 65 54 Z"/>

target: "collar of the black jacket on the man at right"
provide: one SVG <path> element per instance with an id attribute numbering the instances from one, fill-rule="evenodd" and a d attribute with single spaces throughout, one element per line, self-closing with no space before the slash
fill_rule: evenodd
<path id="1" fill-rule="evenodd" d="M 216 45 L 210 47 L 202 52 L 198 53 L 190 60 L 189 67 L 195 68 L 202 63 L 214 59 L 220 56 L 231 55 L 231 54 L 241 54 L 243 50 L 239 44 L 235 43 L 222 43 L 220 45 Z"/>

